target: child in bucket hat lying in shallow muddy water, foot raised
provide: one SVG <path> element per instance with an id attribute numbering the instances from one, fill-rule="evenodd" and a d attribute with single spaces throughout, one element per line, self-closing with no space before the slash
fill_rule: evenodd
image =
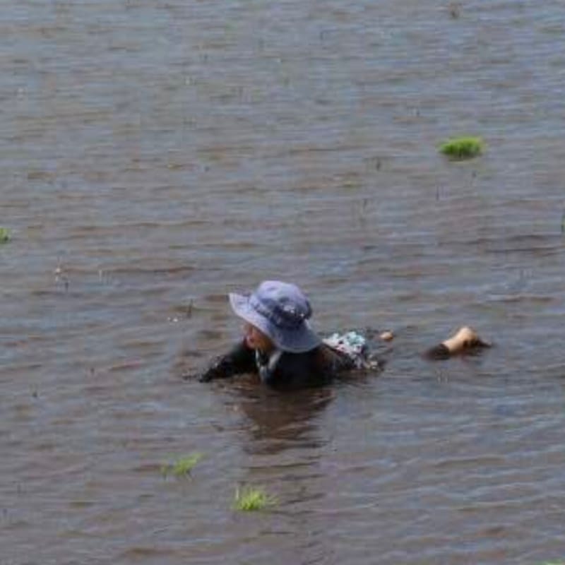
<path id="1" fill-rule="evenodd" d="M 258 374 L 269 386 L 294 388 L 326 383 L 355 369 L 381 369 L 358 333 L 322 340 L 310 326 L 312 309 L 297 285 L 266 280 L 251 295 L 230 293 L 229 297 L 233 311 L 244 320 L 244 337 L 198 376 L 201 382 Z M 428 350 L 427 356 L 444 359 L 477 345 L 488 344 L 472 329 L 461 328 Z"/>

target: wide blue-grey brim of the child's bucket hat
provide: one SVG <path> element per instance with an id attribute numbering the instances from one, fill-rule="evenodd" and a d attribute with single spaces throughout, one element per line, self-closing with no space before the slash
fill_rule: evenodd
<path id="1" fill-rule="evenodd" d="M 278 328 L 251 307 L 248 296 L 234 292 L 230 292 L 229 296 L 230 305 L 235 314 L 261 330 L 281 351 L 304 353 L 321 344 L 321 338 L 310 327 L 307 320 L 304 320 L 297 328 Z"/>

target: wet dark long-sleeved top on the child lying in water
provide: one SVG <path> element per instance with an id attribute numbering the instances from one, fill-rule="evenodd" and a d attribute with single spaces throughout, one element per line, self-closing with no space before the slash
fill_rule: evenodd
<path id="1" fill-rule="evenodd" d="M 244 341 L 217 359 L 198 380 L 208 382 L 237 374 L 259 374 L 256 352 Z M 327 345 L 305 353 L 283 352 L 273 371 L 261 380 L 274 388 L 318 386 L 328 383 L 343 371 L 355 369 L 355 363 Z"/>

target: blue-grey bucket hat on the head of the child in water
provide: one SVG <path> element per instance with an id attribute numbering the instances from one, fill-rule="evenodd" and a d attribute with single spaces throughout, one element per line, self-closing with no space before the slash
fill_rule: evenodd
<path id="1" fill-rule="evenodd" d="M 303 353 L 321 343 L 308 323 L 310 303 L 297 285 L 265 280 L 249 296 L 230 292 L 230 304 L 237 316 L 261 330 L 282 351 Z"/>

